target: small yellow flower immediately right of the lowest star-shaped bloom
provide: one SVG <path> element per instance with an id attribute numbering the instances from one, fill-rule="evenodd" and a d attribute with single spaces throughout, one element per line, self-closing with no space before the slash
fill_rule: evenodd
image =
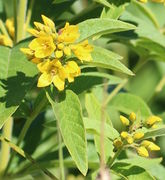
<path id="1" fill-rule="evenodd" d="M 67 72 L 67 78 L 69 82 L 73 82 L 74 77 L 79 76 L 81 73 L 80 67 L 77 65 L 75 61 L 67 62 L 65 69 Z"/>

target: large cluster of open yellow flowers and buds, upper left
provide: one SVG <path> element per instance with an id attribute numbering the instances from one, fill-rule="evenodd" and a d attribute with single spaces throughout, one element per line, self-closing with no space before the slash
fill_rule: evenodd
<path id="1" fill-rule="evenodd" d="M 54 22 L 42 15 L 43 24 L 34 22 L 35 29 L 29 29 L 35 38 L 30 42 L 28 48 L 21 51 L 35 64 L 41 75 L 38 79 L 38 87 L 46 87 L 50 84 L 59 90 L 64 90 L 65 80 L 73 82 L 81 71 L 73 55 L 81 62 L 91 61 L 93 47 L 88 40 L 76 43 L 79 38 L 77 25 L 70 25 L 56 32 Z"/>

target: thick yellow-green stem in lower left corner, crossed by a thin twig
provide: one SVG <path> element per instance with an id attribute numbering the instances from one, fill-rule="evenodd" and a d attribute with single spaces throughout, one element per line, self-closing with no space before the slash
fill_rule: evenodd
<path id="1" fill-rule="evenodd" d="M 3 136 L 7 139 L 11 139 L 13 127 L 13 118 L 10 117 L 3 126 Z M 3 176 L 3 173 L 7 167 L 10 157 L 10 147 L 6 142 L 1 144 L 1 154 L 0 154 L 0 177 Z"/>

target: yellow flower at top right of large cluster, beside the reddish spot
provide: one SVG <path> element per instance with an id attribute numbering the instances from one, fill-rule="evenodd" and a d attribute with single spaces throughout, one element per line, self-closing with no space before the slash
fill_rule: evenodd
<path id="1" fill-rule="evenodd" d="M 58 32 L 58 42 L 74 43 L 79 36 L 78 26 L 69 25 L 67 22 L 65 27 Z"/>

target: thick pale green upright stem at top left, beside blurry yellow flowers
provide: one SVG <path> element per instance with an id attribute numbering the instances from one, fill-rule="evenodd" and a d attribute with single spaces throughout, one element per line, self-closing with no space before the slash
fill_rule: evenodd
<path id="1" fill-rule="evenodd" d="M 20 0 L 17 15 L 17 42 L 21 41 L 25 35 L 27 0 Z"/>

